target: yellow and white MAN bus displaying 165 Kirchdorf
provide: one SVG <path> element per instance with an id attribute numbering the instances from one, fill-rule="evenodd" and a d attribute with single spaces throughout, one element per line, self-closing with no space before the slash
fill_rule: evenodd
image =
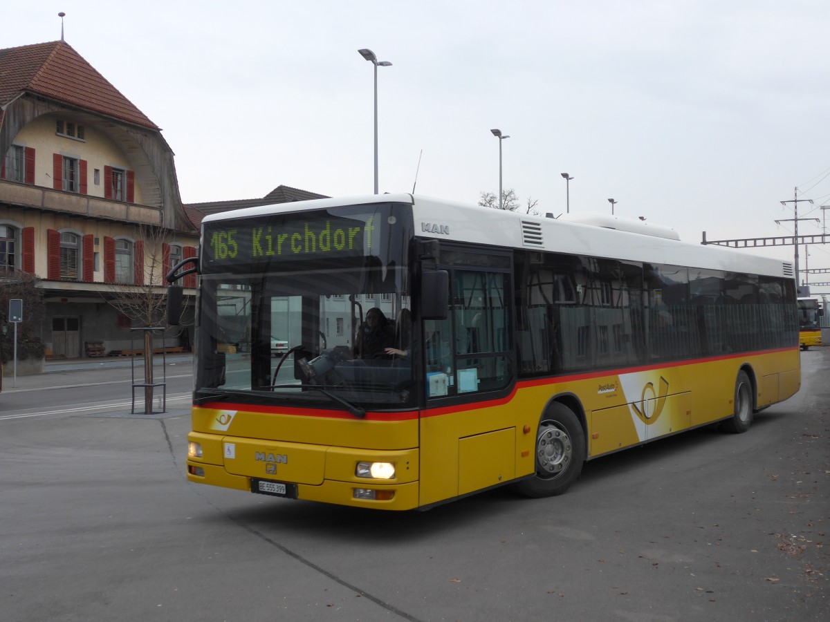
<path id="1" fill-rule="evenodd" d="M 568 218 L 409 194 L 207 216 L 168 275 L 168 318 L 200 277 L 188 480 L 388 510 L 549 496 L 798 391 L 792 265 Z"/>

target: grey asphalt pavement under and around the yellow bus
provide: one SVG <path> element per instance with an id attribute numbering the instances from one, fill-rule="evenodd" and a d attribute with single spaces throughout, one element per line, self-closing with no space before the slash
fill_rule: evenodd
<path id="1" fill-rule="evenodd" d="M 745 434 L 426 513 L 188 483 L 186 414 L 117 415 L 123 362 L 53 362 L 0 395 L 0 620 L 823 622 L 830 348 L 801 359 L 802 390 Z M 177 393 L 191 367 L 168 360 Z"/>

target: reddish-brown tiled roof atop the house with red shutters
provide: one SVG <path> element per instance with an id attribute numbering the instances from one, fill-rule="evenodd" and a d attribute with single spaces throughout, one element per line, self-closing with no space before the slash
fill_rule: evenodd
<path id="1" fill-rule="evenodd" d="M 66 41 L 0 50 L 0 105 L 24 92 L 159 130 Z"/>

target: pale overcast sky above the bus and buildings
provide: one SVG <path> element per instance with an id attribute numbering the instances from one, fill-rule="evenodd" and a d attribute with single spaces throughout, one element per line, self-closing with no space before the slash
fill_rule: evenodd
<path id="1" fill-rule="evenodd" d="M 566 209 L 560 173 L 570 211 L 614 198 L 688 241 L 787 235 L 795 187 L 814 201 L 799 218 L 830 204 L 827 0 L 2 2 L 0 46 L 59 39 L 60 11 L 66 41 L 163 128 L 184 202 L 371 193 L 368 47 L 393 63 L 381 192 L 412 192 L 419 158 L 419 194 L 497 192 L 499 128 L 505 189 L 543 212 Z"/>

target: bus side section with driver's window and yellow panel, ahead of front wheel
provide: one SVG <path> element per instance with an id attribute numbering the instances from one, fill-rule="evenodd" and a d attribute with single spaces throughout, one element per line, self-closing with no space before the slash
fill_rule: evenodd
<path id="1" fill-rule="evenodd" d="M 509 252 L 443 246 L 446 319 L 424 319 L 421 503 L 515 478 L 515 410 L 500 404 L 515 379 Z"/>

